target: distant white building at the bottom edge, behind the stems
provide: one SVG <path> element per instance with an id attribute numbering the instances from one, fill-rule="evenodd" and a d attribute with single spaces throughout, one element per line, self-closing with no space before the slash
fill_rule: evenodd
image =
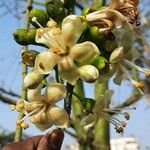
<path id="1" fill-rule="evenodd" d="M 111 150 L 140 150 L 138 140 L 134 137 L 123 137 L 110 140 Z M 79 150 L 78 144 L 67 145 L 66 150 Z"/>

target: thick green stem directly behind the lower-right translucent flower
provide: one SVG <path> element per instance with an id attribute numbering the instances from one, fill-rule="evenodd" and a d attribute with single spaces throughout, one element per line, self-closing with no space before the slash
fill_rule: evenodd
<path id="1" fill-rule="evenodd" d="M 98 100 L 98 97 L 105 93 L 108 89 L 108 82 L 103 84 L 95 84 L 95 100 Z M 104 99 L 105 100 L 105 99 Z M 105 119 L 99 119 L 95 126 L 95 135 L 94 142 L 96 150 L 109 150 L 110 135 L 109 135 L 109 122 Z"/>

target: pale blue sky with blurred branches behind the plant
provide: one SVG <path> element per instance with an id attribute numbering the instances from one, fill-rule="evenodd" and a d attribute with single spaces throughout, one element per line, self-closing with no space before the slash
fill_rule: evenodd
<path id="1" fill-rule="evenodd" d="M 19 99 L 21 93 L 21 49 L 13 39 L 17 28 L 24 27 L 26 0 L 0 0 L 0 145 L 13 140 L 15 122 L 18 114 L 10 110 L 9 105 Z M 76 2 L 76 14 L 80 14 L 82 6 L 91 6 L 90 0 Z M 141 25 L 135 27 L 135 47 L 141 53 L 137 61 L 140 66 L 150 69 L 150 1 L 141 0 L 139 4 Z M 43 8 L 43 1 L 34 0 L 33 7 Z M 30 49 L 35 47 L 31 46 Z M 36 48 L 37 49 L 37 48 Z M 39 48 L 41 50 L 41 48 Z M 131 119 L 122 135 L 118 135 L 111 127 L 111 139 L 135 137 L 141 150 L 150 149 L 150 79 L 138 75 L 145 82 L 145 95 L 134 104 L 136 110 L 131 110 Z M 110 88 L 115 90 L 112 105 L 116 106 L 132 95 L 132 87 L 124 81 L 122 86 L 116 86 L 110 80 Z M 93 85 L 85 84 L 86 95 L 93 97 Z M 51 129 L 50 129 L 51 130 Z M 45 131 L 47 132 L 47 131 Z M 24 137 L 44 134 L 32 124 L 24 131 Z M 66 134 L 63 148 L 75 144 L 76 141 Z"/>

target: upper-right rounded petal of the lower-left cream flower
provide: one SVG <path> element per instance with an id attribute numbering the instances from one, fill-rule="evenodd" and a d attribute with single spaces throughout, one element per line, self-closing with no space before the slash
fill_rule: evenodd
<path id="1" fill-rule="evenodd" d="M 66 97 L 67 91 L 63 84 L 53 83 L 49 84 L 45 93 L 45 101 L 47 103 L 55 103 Z"/>

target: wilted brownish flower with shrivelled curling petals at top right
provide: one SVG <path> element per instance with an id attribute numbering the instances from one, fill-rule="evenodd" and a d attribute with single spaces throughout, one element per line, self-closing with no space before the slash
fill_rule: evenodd
<path id="1" fill-rule="evenodd" d="M 138 0 L 111 0 L 108 7 L 86 15 L 87 21 L 92 25 L 100 27 L 99 32 L 112 30 L 130 23 L 139 24 Z"/>

